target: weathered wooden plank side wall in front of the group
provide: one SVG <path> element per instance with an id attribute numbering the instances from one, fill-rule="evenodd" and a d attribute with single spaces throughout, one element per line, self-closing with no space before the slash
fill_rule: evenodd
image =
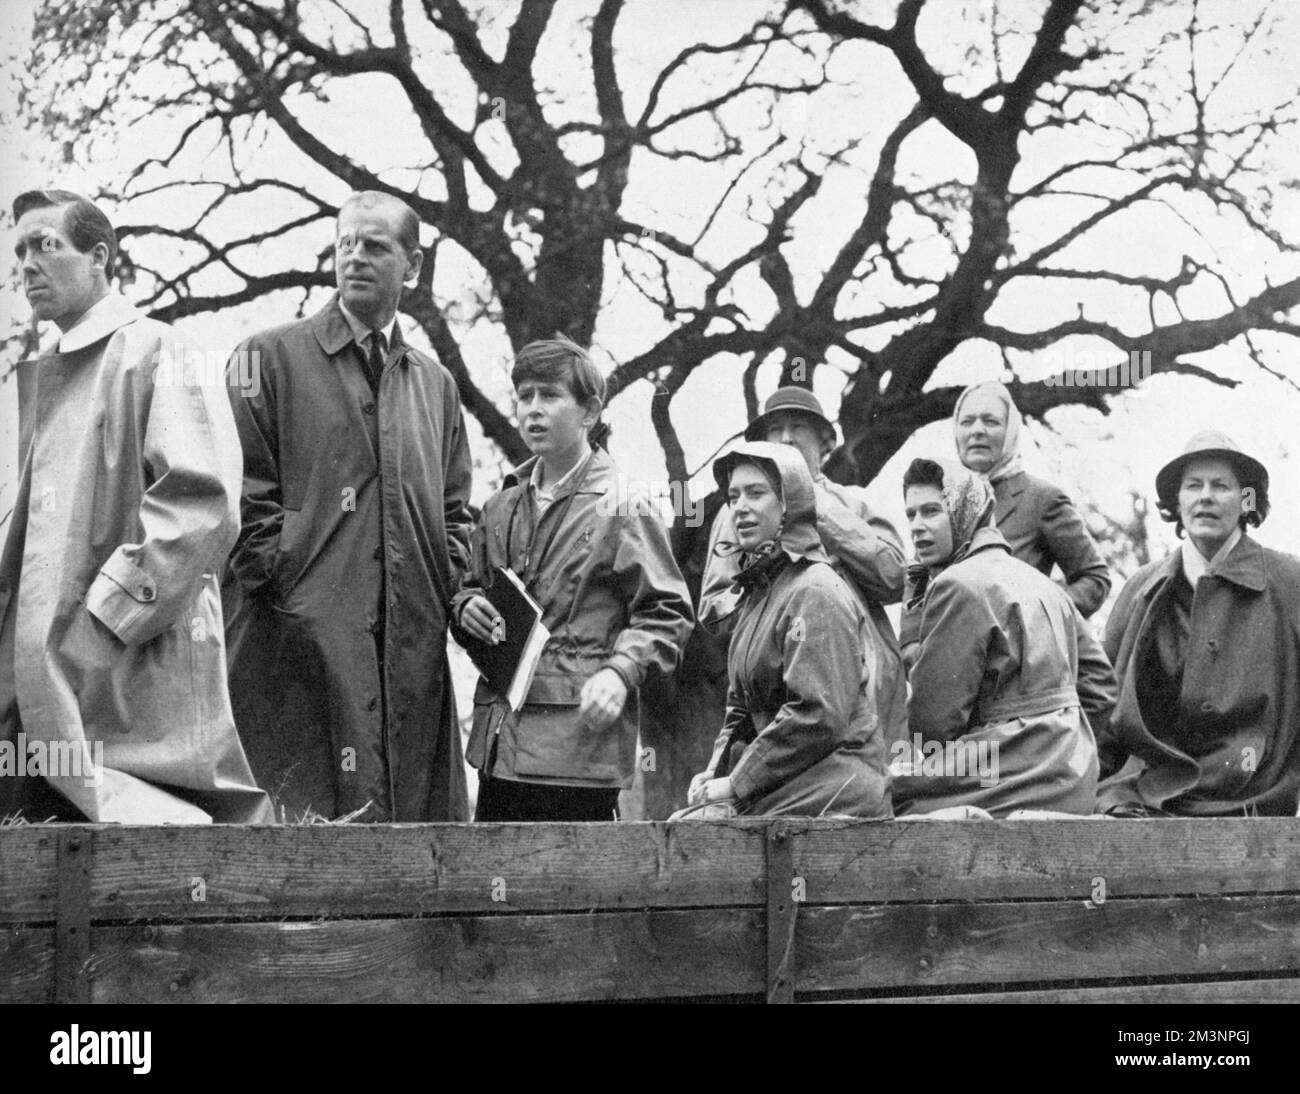
<path id="1" fill-rule="evenodd" d="M 0 829 L 0 1002 L 1300 1002 L 1300 821 Z"/>

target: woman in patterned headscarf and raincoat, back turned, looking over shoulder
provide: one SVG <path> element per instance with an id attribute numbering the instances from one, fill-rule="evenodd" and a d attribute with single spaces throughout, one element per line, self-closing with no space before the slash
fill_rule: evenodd
<path id="1" fill-rule="evenodd" d="M 904 500 L 918 566 L 919 647 L 896 755 L 900 816 L 974 806 L 1091 813 L 1093 728 L 1115 677 L 1065 591 L 1014 559 L 993 525 L 993 490 L 953 464 L 914 460 Z"/>

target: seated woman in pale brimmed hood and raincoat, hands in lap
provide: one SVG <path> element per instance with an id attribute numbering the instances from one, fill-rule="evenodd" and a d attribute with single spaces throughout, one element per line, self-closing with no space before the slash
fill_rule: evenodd
<path id="1" fill-rule="evenodd" d="M 863 608 L 816 533 L 812 477 L 785 444 L 714 464 L 740 552 L 727 713 L 682 815 L 888 817 L 885 743 L 863 665 Z M 680 815 L 679 815 L 680 816 Z"/>

